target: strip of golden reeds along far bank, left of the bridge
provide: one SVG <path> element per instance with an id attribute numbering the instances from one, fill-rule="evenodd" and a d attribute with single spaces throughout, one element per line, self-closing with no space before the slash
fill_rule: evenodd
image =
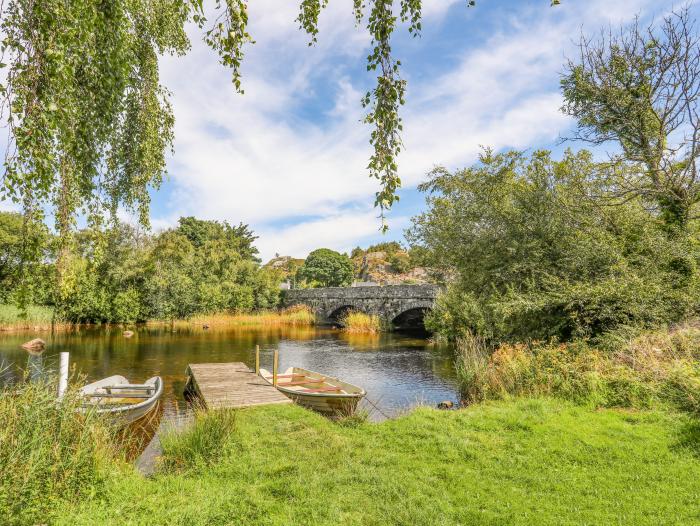
<path id="1" fill-rule="evenodd" d="M 165 323 L 165 322 L 156 322 Z M 169 322 L 168 322 L 169 323 Z M 209 327 L 306 327 L 316 323 L 316 316 L 306 305 L 292 305 L 278 311 L 258 311 L 252 313 L 219 312 L 198 314 L 187 320 L 175 320 L 175 327 L 190 327 L 192 325 Z"/>

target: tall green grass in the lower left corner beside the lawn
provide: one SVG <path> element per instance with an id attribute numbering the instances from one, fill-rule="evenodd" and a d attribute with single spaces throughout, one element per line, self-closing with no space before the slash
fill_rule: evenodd
<path id="1" fill-rule="evenodd" d="M 2 524 L 48 524 L 61 503 L 99 493 L 114 454 L 109 426 L 81 414 L 69 391 L 23 383 L 0 391 L 0 517 Z"/>

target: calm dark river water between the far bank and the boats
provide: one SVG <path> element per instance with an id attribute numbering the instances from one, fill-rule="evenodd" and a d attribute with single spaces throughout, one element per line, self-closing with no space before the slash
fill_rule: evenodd
<path id="1" fill-rule="evenodd" d="M 395 416 L 418 404 L 435 405 L 458 399 L 449 349 L 425 338 L 398 333 L 351 335 L 330 328 L 185 328 L 140 327 L 131 338 L 120 328 L 83 328 L 51 335 L 0 333 L 0 364 L 11 365 L 5 380 L 17 378 L 28 363 L 20 348 L 41 337 L 45 369 L 56 369 L 58 353 L 69 351 L 81 381 L 121 374 L 132 382 L 159 375 L 165 382 L 165 413 L 186 409 L 183 399 L 189 363 L 245 362 L 253 366 L 260 345 L 261 367 L 271 369 L 272 351 L 279 350 L 280 369 L 297 366 L 336 376 L 364 387 L 363 402 L 372 419 Z M 76 380 L 77 381 L 77 380 Z"/>

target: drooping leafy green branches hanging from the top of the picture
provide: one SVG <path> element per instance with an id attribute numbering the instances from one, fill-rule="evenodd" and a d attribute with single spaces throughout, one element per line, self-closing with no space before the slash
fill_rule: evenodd
<path id="1" fill-rule="evenodd" d="M 557 2 L 552 2 L 557 3 Z M 473 4 L 473 2 L 471 2 Z M 297 21 L 318 35 L 328 0 L 301 0 Z M 230 68 L 241 89 L 248 33 L 246 0 L 7 0 L 0 5 L 2 113 L 9 124 L 0 196 L 39 213 L 50 203 L 67 254 L 76 214 L 99 225 L 122 205 L 148 223 L 149 188 L 157 188 L 172 145 L 173 115 L 160 84 L 158 56 L 183 54 L 188 23 Z M 362 98 L 373 126 L 369 173 L 380 181 L 376 204 L 389 208 L 400 186 L 397 156 L 406 82 L 392 55 L 397 24 L 420 34 L 422 0 L 353 1 L 358 26 L 371 36 L 367 70 L 376 86 Z M 210 17 L 210 18 L 208 18 Z M 59 277 L 62 264 L 59 264 Z"/>

